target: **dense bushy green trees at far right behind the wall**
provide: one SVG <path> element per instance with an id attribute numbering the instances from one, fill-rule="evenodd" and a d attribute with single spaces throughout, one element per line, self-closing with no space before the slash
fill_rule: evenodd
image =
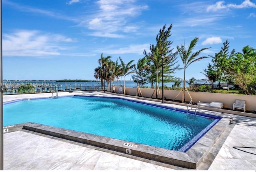
<path id="1" fill-rule="evenodd" d="M 237 84 L 243 94 L 255 94 L 256 88 L 256 49 L 246 45 L 241 52 L 235 49 L 229 52 L 229 42 L 226 40 L 220 52 L 212 57 L 212 63 L 208 63 L 204 69 L 204 75 L 213 84 L 224 81 L 229 84 Z"/>

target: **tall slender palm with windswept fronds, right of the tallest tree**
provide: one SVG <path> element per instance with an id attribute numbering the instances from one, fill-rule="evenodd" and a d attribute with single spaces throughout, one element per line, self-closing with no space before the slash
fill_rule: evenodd
<path id="1" fill-rule="evenodd" d="M 180 45 L 177 46 L 177 51 L 180 55 L 180 58 L 182 60 L 182 63 L 184 65 L 184 78 L 183 78 L 183 96 L 182 96 L 182 103 L 184 103 L 185 101 L 185 82 L 186 82 L 186 68 L 188 68 L 188 66 L 191 63 L 194 63 L 196 61 L 200 61 L 201 59 L 205 59 L 208 58 L 206 56 L 202 56 L 202 57 L 198 57 L 197 56 L 202 53 L 202 51 L 209 49 L 209 48 L 202 48 L 194 53 L 192 53 L 194 47 L 196 46 L 196 43 L 198 42 L 199 38 L 195 37 L 191 42 L 190 45 L 188 46 L 188 50 L 185 49 L 185 45 Z"/>

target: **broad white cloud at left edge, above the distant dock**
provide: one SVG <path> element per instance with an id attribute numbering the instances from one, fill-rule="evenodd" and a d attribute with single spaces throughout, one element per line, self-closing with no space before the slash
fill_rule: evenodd
<path id="1" fill-rule="evenodd" d="M 47 56 L 60 55 L 68 47 L 61 42 L 74 42 L 71 38 L 57 34 L 42 34 L 36 30 L 20 30 L 3 35 L 4 56 Z"/>

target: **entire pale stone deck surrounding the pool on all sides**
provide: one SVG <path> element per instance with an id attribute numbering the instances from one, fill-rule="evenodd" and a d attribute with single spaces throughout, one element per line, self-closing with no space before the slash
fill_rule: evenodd
<path id="1" fill-rule="evenodd" d="M 67 95 L 108 96 L 102 92 L 59 92 Z M 4 96 L 4 102 L 22 98 L 49 97 L 51 94 L 26 94 Z M 113 96 L 113 95 L 110 95 Z M 122 96 L 122 95 L 121 95 Z M 136 99 L 129 98 L 128 99 Z M 144 102 L 152 102 L 150 99 Z M 155 102 L 155 104 L 161 104 Z M 168 104 L 168 106 L 186 109 L 186 106 Z M 252 117 L 225 114 L 214 111 L 206 113 L 232 117 L 234 122 L 224 131 L 208 156 L 197 167 L 198 170 L 255 170 L 256 169 L 256 121 Z M 46 146 L 48 145 L 48 146 Z M 86 148 L 86 149 L 85 149 Z M 73 150 L 74 149 L 74 150 Z M 73 150 L 73 151 L 71 151 Z M 80 151 L 79 151 L 80 150 Z M 84 152 L 84 153 L 82 153 Z M 106 158 L 105 158 L 106 157 Z M 112 158 L 108 158 L 112 157 Z M 52 159 L 51 159 L 52 158 Z M 33 165 L 34 164 L 34 165 Z M 34 131 L 21 129 L 4 134 L 4 170 L 140 170 L 159 169 L 182 170 L 186 168 L 67 141 Z"/>

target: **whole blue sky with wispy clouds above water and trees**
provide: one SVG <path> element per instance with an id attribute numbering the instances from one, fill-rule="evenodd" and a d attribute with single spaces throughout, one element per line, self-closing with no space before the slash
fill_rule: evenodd
<path id="1" fill-rule="evenodd" d="M 195 37 L 195 50 L 211 47 L 202 56 L 227 39 L 230 51 L 256 48 L 256 0 L 2 0 L 3 79 L 95 80 L 101 53 L 136 62 L 164 24 L 174 51 Z M 190 65 L 186 78 L 205 78 L 210 61 Z"/>

